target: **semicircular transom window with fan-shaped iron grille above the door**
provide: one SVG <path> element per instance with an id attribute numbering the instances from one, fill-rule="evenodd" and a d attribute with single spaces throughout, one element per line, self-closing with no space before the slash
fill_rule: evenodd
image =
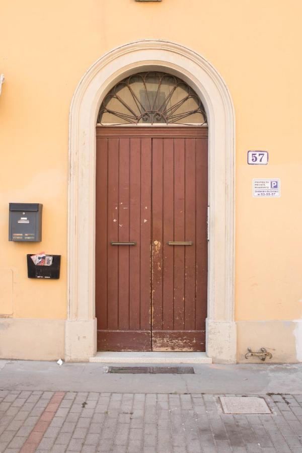
<path id="1" fill-rule="evenodd" d="M 165 72 L 139 72 L 105 97 L 98 124 L 205 124 L 204 107 L 189 85 Z"/>

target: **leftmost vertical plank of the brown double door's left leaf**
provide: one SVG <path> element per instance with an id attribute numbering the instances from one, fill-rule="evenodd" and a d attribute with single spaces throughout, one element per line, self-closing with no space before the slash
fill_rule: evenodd
<path id="1" fill-rule="evenodd" d="M 108 138 L 97 139 L 96 159 L 96 317 L 98 329 L 107 329 Z"/>

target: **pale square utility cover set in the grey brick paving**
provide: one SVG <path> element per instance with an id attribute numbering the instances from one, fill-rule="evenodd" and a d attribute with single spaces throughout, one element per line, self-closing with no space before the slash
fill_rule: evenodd
<path id="1" fill-rule="evenodd" d="M 263 398 L 219 397 L 224 414 L 271 414 Z"/>

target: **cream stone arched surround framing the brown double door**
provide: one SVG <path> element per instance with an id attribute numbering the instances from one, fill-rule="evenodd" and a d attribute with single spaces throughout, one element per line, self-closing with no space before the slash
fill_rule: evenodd
<path id="1" fill-rule="evenodd" d="M 213 361 L 234 363 L 235 117 L 232 99 L 220 74 L 206 59 L 182 45 L 163 40 L 135 41 L 106 53 L 88 69 L 72 98 L 65 360 L 89 360 L 97 351 L 95 125 L 106 94 L 135 70 L 159 70 L 176 75 L 193 88 L 205 107 L 210 124 L 206 352 Z"/>

